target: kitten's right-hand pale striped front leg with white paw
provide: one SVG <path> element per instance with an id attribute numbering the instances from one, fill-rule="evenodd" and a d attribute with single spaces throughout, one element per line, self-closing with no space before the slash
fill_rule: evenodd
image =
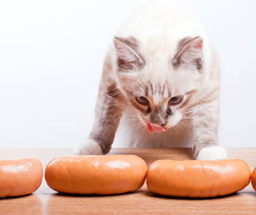
<path id="1" fill-rule="evenodd" d="M 211 96 L 218 97 L 218 92 Z M 218 99 L 207 99 L 192 111 L 193 158 L 196 160 L 221 160 L 227 158 L 225 148 L 218 144 Z"/>

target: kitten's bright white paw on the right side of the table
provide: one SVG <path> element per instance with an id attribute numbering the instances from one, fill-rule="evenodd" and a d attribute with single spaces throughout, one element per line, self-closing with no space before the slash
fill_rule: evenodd
<path id="1" fill-rule="evenodd" d="M 212 145 L 202 148 L 196 160 L 221 160 L 227 159 L 226 149 L 219 145 Z"/>

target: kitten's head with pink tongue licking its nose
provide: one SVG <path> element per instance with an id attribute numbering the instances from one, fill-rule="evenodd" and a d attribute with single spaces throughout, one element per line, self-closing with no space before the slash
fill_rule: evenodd
<path id="1" fill-rule="evenodd" d="M 183 38 L 168 47 L 114 38 L 114 46 L 119 88 L 148 131 L 181 125 L 201 84 L 202 39 Z"/>

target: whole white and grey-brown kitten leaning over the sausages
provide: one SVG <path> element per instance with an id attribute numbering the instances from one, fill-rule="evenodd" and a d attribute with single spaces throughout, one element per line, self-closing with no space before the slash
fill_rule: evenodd
<path id="1" fill-rule="evenodd" d="M 120 27 L 105 54 L 90 135 L 75 155 L 127 147 L 191 147 L 192 159 L 227 158 L 218 142 L 220 66 L 198 19 L 153 0 Z"/>

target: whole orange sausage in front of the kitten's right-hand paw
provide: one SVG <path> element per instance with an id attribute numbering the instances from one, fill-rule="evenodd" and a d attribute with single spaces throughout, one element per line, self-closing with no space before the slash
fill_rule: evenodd
<path id="1" fill-rule="evenodd" d="M 244 189 L 251 178 L 244 160 L 157 160 L 148 168 L 152 193 L 175 197 L 207 198 Z"/>

